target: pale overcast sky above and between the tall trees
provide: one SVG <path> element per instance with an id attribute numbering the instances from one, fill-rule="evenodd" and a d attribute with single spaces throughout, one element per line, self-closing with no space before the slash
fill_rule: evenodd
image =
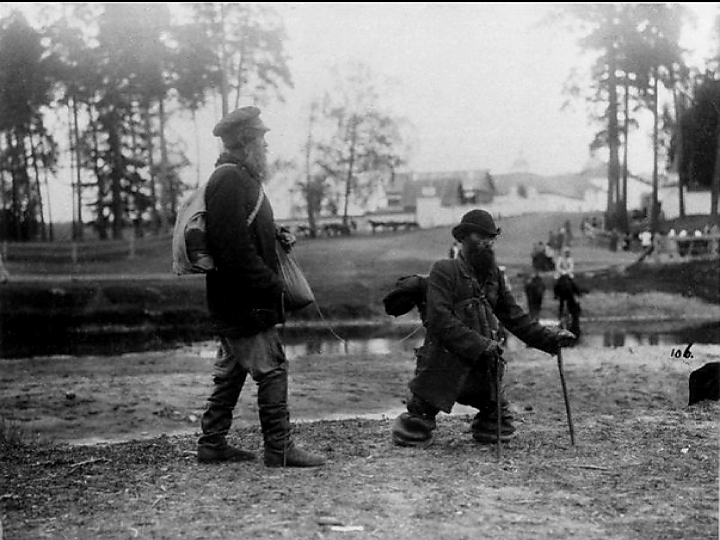
<path id="1" fill-rule="evenodd" d="M 172 4 L 171 4 L 172 5 Z M 392 79 L 382 104 L 413 129 L 408 166 L 414 171 L 488 169 L 501 174 L 522 157 L 537 174 L 576 172 L 588 162 L 588 145 L 600 126 L 585 105 L 567 101 L 563 85 L 573 69 L 587 73 L 576 38 L 553 25 L 539 26 L 549 3 L 288 2 L 284 43 L 294 82 L 285 102 L 263 107 L 270 159 L 299 157 L 307 137 L 309 104 L 331 86 L 330 67 L 360 60 L 378 80 Z M 718 4 L 686 3 L 698 26 L 683 46 L 695 61 L 714 43 L 710 23 Z M 240 103 L 241 106 L 248 103 Z M 200 115 L 198 129 L 176 124 L 194 166 L 193 184 L 212 170 L 218 140 L 211 134 L 218 103 Z M 195 138 L 200 140 L 196 151 Z M 630 140 L 630 167 L 652 170 L 650 124 Z M 600 155 L 602 157 L 602 154 Z M 67 183 L 65 182 L 67 188 Z M 60 182 L 62 184 L 62 182 Z M 56 216 L 69 195 L 54 196 Z M 69 215 L 69 214 L 68 214 Z"/>

